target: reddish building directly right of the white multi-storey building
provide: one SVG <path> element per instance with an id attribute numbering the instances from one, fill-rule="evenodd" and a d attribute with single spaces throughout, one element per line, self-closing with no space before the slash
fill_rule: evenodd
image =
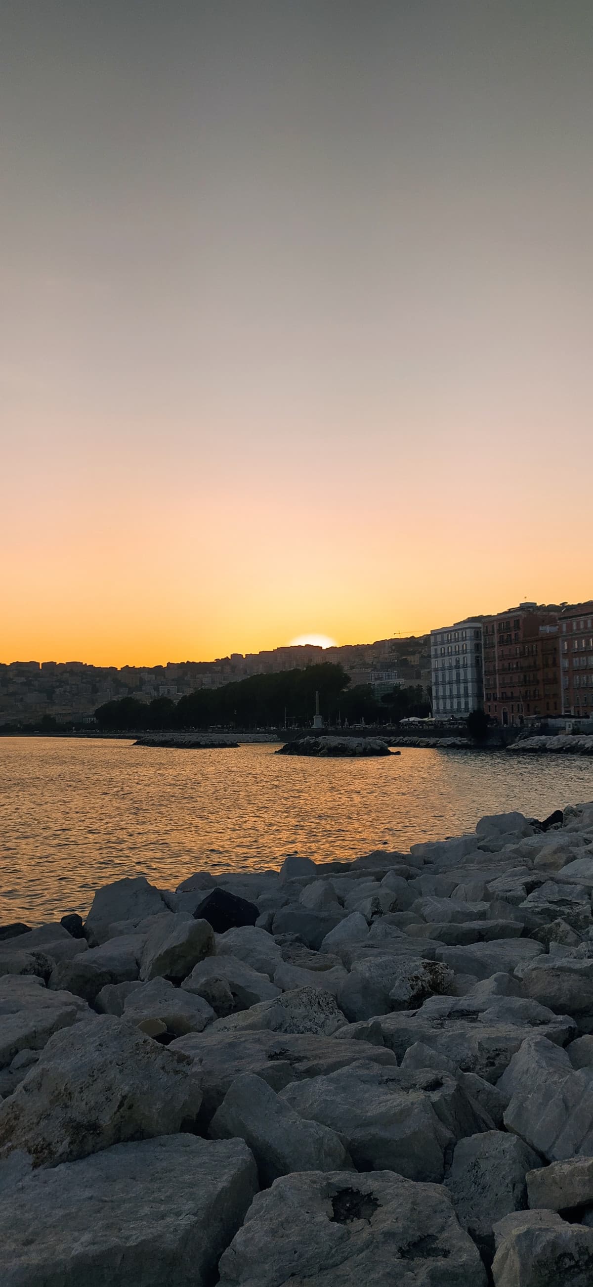
<path id="1" fill-rule="evenodd" d="M 499 723 L 561 714 L 560 613 L 556 605 L 521 604 L 484 618 L 484 709 Z"/>

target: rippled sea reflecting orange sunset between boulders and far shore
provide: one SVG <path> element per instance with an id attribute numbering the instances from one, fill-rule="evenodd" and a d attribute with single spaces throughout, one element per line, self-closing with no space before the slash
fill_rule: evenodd
<path id="1" fill-rule="evenodd" d="M 120 876 L 175 888 L 199 867 L 406 849 L 472 830 L 482 813 L 545 817 L 593 799 L 593 762 L 578 757 L 403 749 L 315 761 L 274 749 L 0 737 L 0 924 L 84 915 L 93 891 Z"/>

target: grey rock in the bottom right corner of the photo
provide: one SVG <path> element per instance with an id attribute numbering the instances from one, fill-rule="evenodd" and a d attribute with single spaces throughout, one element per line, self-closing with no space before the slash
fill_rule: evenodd
<path id="1" fill-rule="evenodd" d="M 590 1287 L 593 1229 L 556 1211 L 517 1211 L 494 1227 L 494 1287 Z"/>

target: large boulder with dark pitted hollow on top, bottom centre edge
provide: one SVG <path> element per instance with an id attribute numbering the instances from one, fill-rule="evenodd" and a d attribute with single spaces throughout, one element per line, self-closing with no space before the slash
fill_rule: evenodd
<path id="1" fill-rule="evenodd" d="M 392 1171 L 287 1175 L 257 1194 L 220 1261 L 220 1287 L 360 1283 L 486 1287 L 446 1189 Z"/>

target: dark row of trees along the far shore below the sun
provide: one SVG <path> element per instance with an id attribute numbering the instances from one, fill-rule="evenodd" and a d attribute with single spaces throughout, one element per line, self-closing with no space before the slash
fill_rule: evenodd
<path id="1" fill-rule="evenodd" d="M 422 687 L 394 689 L 381 700 L 373 689 L 350 689 L 350 677 L 333 662 L 279 674 L 253 674 L 220 689 L 199 689 L 180 698 L 139 701 L 122 698 L 95 712 L 102 728 L 282 728 L 307 727 L 315 710 L 315 692 L 328 723 L 399 723 L 404 716 L 430 714 Z"/>

